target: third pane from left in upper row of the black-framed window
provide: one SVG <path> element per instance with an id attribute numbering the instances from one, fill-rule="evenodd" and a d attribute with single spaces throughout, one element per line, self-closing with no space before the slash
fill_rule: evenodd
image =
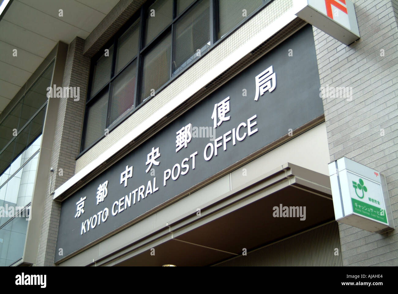
<path id="1" fill-rule="evenodd" d="M 157 0 L 149 6 L 146 18 L 145 45 L 154 39 L 173 18 L 173 0 Z"/>

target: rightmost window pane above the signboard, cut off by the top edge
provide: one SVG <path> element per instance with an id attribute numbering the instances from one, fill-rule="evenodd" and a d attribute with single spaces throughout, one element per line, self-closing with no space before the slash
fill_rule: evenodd
<path id="1" fill-rule="evenodd" d="M 219 0 L 219 39 L 263 4 L 263 0 Z"/>

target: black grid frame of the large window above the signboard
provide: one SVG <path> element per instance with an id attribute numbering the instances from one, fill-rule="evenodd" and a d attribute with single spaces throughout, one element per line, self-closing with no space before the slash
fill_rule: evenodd
<path id="1" fill-rule="evenodd" d="M 85 141 L 85 135 L 86 135 L 86 125 L 87 125 L 87 110 L 88 107 L 90 107 L 90 104 L 94 103 L 96 98 L 98 98 L 100 93 L 108 87 L 108 109 L 107 109 L 107 116 L 106 116 L 106 123 L 105 123 L 105 128 L 111 132 L 113 129 L 115 129 L 117 126 L 119 126 L 122 122 L 124 122 L 127 118 L 129 118 L 134 112 L 139 110 L 142 106 L 144 106 L 148 101 L 150 101 L 154 96 L 156 96 L 159 92 L 161 92 L 166 86 L 168 86 L 170 83 L 172 83 L 176 78 L 179 77 L 180 74 L 183 74 L 185 71 L 187 71 L 190 67 L 192 67 L 197 61 L 203 58 L 207 53 L 212 51 L 217 45 L 219 45 L 225 38 L 227 38 L 231 33 L 236 31 L 239 27 L 241 27 L 244 23 L 246 23 L 248 20 L 250 20 L 253 16 L 255 16 L 260 10 L 265 8 L 267 5 L 269 5 L 273 0 L 262 0 L 262 4 L 256 8 L 252 13 L 248 14 L 246 18 L 244 18 L 242 21 L 240 21 L 236 26 L 232 27 L 228 32 L 226 32 L 220 39 L 218 39 L 218 32 L 219 32 L 219 10 L 218 10 L 218 0 L 205 0 L 209 1 L 209 10 L 210 10 L 210 46 L 209 49 L 201 54 L 198 58 L 195 58 L 193 61 L 191 61 L 185 68 L 181 69 L 178 71 L 178 73 L 173 75 L 173 57 L 176 54 L 176 38 L 174 34 L 175 30 L 175 24 L 178 22 L 178 20 L 184 16 L 185 13 L 187 13 L 193 6 L 195 6 L 199 1 L 202 0 L 193 0 L 191 4 L 189 4 L 179 15 L 177 15 L 177 1 L 178 0 L 172 0 L 172 21 L 166 25 L 158 35 L 156 35 L 152 41 L 150 41 L 147 45 L 144 45 L 145 41 L 145 33 L 146 33 L 146 19 L 147 19 L 147 12 L 149 7 L 155 2 L 156 0 L 148 0 L 142 6 L 137 10 L 135 14 L 105 43 L 105 45 L 92 57 L 91 60 L 91 65 L 90 65 L 90 74 L 89 74 L 89 80 L 88 80 L 88 90 L 87 90 L 87 98 L 85 102 L 85 108 L 84 108 L 84 120 L 83 120 L 83 125 L 82 125 L 82 131 L 81 131 L 81 140 L 80 140 L 80 152 L 76 159 L 78 159 L 80 156 L 82 156 L 84 153 L 86 153 L 91 147 L 96 145 L 101 139 L 105 137 L 105 133 L 103 133 L 101 136 L 98 137 L 94 142 L 92 142 L 88 146 L 84 146 L 84 141 Z M 129 62 L 126 63 L 126 65 L 120 69 L 118 73 L 115 73 L 115 67 L 116 67 L 116 55 L 117 55 L 117 41 L 125 33 L 131 25 L 133 25 L 137 19 L 139 18 L 139 38 L 138 38 L 138 50 L 137 50 L 137 55 L 133 57 Z M 171 38 L 172 38 L 172 44 L 171 44 L 171 56 L 170 56 L 170 78 L 167 82 L 165 82 L 162 86 L 160 86 L 158 89 L 155 90 L 154 96 L 144 98 L 144 100 L 139 103 L 140 101 L 140 93 L 141 93 L 141 77 L 142 77 L 142 70 L 143 70 L 143 59 L 146 53 L 150 51 L 153 47 L 156 47 L 158 42 L 171 33 Z M 94 65 L 96 61 L 101 57 L 101 55 L 104 54 L 105 49 L 109 49 L 113 45 L 113 57 L 112 57 L 112 65 L 111 65 L 111 77 L 107 84 L 105 84 L 98 92 L 95 93 L 91 97 L 91 88 L 92 88 L 92 81 L 93 81 L 93 74 L 94 74 Z M 126 112 L 124 115 L 120 116 L 117 118 L 114 122 L 109 123 L 109 113 L 110 113 L 110 102 L 111 102 L 111 84 L 112 81 L 119 76 L 132 62 L 137 60 L 136 63 L 136 84 L 135 84 L 135 93 L 134 93 L 134 105 L 133 108 L 129 111 Z M 105 132 L 105 130 L 104 130 Z"/>

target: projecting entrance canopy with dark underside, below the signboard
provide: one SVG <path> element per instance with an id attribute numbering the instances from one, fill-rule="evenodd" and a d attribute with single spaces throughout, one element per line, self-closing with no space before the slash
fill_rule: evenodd
<path id="1" fill-rule="evenodd" d="M 274 217 L 280 205 L 305 207 L 305 220 Z M 329 177 L 286 163 L 88 265 L 214 265 L 334 219 Z"/>

